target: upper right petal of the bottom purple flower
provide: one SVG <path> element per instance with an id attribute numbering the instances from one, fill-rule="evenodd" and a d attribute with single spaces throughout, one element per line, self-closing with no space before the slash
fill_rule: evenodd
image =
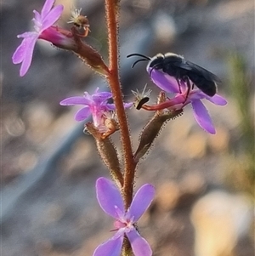
<path id="1" fill-rule="evenodd" d="M 139 188 L 129 208 L 130 216 L 134 217 L 133 222 L 138 221 L 147 208 L 149 208 L 154 196 L 155 188 L 153 185 L 145 184 Z"/>

